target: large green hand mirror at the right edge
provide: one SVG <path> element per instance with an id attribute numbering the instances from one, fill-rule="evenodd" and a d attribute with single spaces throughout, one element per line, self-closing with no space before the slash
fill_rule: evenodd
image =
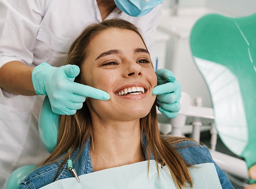
<path id="1" fill-rule="evenodd" d="M 256 14 L 205 15 L 193 26 L 190 45 L 219 137 L 249 169 L 256 164 Z"/>

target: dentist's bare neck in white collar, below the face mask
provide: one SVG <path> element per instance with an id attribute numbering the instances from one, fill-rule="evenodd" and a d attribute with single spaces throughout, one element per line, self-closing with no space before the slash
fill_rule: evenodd
<path id="1" fill-rule="evenodd" d="M 97 0 L 97 4 L 101 13 L 102 20 L 105 20 L 106 17 L 116 8 L 114 0 Z"/>

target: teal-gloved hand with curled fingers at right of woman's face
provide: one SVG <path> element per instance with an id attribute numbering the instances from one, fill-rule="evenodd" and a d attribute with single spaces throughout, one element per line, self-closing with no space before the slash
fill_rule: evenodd
<path id="1" fill-rule="evenodd" d="M 168 118 L 175 118 L 181 109 L 181 84 L 168 69 L 155 71 L 157 86 L 152 94 L 156 96 L 158 110 Z"/>

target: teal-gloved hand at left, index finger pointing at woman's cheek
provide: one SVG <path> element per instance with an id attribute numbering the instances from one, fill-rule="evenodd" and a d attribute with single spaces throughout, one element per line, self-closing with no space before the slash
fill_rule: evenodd
<path id="1" fill-rule="evenodd" d="M 32 72 L 32 83 L 37 94 L 48 95 L 52 111 L 73 115 L 82 108 L 85 97 L 109 100 L 110 95 L 100 89 L 73 82 L 80 69 L 76 65 L 52 67 L 44 62 Z"/>

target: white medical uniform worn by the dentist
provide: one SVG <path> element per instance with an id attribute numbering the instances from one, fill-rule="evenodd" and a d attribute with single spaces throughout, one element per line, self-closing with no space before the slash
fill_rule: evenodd
<path id="1" fill-rule="evenodd" d="M 0 0 L 0 67 L 19 60 L 35 67 L 59 67 L 85 26 L 102 21 L 96 0 Z M 119 17 L 138 26 L 153 53 L 160 6 L 143 17 L 115 8 L 106 18 Z M 38 135 L 43 96 L 22 96 L 0 90 L 0 188 L 16 168 L 41 162 L 48 154 Z"/>

